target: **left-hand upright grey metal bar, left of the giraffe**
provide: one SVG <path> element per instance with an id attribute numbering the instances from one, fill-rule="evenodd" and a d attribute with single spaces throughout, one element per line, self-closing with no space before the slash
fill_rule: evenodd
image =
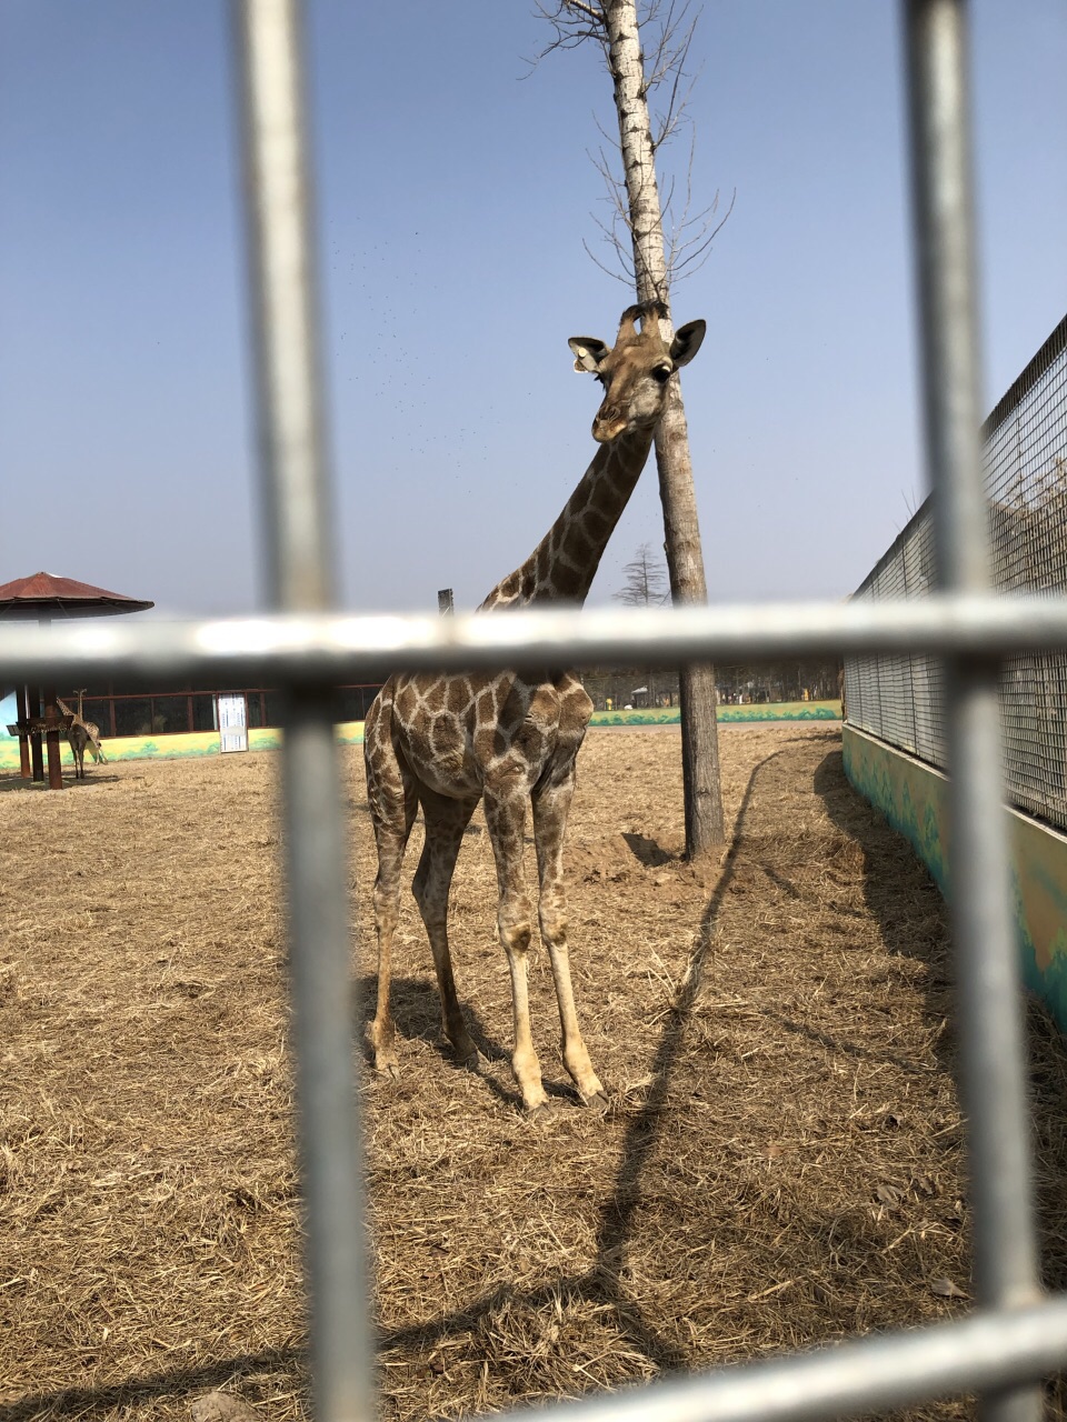
<path id="1" fill-rule="evenodd" d="M 309 165 L 294 0 L 233 0 L 259 378 L 270 602 L 333 600 Z M 364 1202 L 334 695 L 289 697 L 283 754 L 289 934 L 316 1413 L 371 1422 Z"/>

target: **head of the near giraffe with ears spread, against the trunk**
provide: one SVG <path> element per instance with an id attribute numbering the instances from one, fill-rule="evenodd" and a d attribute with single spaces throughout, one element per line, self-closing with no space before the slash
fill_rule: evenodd
<path id="1" fill-rule="evenodd" d="M 667 346 L 660 320 L 667 320 L 667 307 L 662 301 L 646 301 L 623 311 L 613 347 L 593 336 L 572 336 L 568 341 L 575 353 L 575 370 L 589 371 L 605 387 L 593 419 L 598 444 L 610 444 L 627 429 L 653 429 L 667 404 L 670 377 L 700 350 L 707 328 L 704 321 L 679 327 Z"/>

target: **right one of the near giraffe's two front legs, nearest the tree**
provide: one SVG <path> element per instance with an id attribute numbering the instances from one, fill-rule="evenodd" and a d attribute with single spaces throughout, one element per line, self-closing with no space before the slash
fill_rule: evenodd
<path id="1" fill-rule="evenodd" d="M 582 1101 L 590 1105 L 606 1102 L 607 1095 L 600 1078 L 593 1071 L 582 1030 L 578 1025 L 575 990 L 570 981 L 570 950 L 566 940 L 568 919 L 563 890 L 563 835 L 573 793 L 575 771 L 572 765 L 559 784 L 548 784 L 534 796 L 534 839 L 538 848 L 541 889 L 538 919 L 541 937 L 552 963 L 552 980 L 556 985 L 563 1065 Z"/>

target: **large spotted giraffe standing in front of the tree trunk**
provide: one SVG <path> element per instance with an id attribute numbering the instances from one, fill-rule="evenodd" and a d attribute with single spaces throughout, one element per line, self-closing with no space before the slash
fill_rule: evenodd
<path id="1" fill-rule="evenodd" d="M 670 378 L 689 364 L 704 338 L 704 321 L 690 321 L 667 344 L 660 320 L 667 320 L 666 306 L 650 301 L 623 313 L 615 347 L 588 336 L 569 341 L 575 370 L 593 374 L 605 390 L 592 431 L 599 448 L 549 532 L 526 562 L 492 589 L 479 611 L 585 602 L 644 468 Z M 497 865 L 497 927 L 511 973 L 511 1065 L 525 1109 L 539 1112 L 548 1105 L 526 990 L 532 906 L 522 857 L 529 806 L 538 920 L 552 966 L 563 1065 L 583 1102 L 606 1099 L 578 1024 L 563 896 L 563 833 L 575 791 L 575 761 L 592 710 L 578 675 L 556 667 L 521 675 L 396 674 L 374 700 L 364 725 L 364 761 L 378 855 L 378 993 L 367 1037 L 380 1072 L 398 1071 L 390 973 L 404 850 L 420 805 L 425 845 L 411 890 L 434 957 L 444 1035 L 461 1061 L 478 1065 L 478 1049 L 457 997 L 447 920 L 464 830 L 481 802 Z"/>

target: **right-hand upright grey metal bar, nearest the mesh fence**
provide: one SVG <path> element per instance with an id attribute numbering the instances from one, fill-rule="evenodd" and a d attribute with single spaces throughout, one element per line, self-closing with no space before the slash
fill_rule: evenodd
<path id="1" fill-rule="evenodd" d="M 909 127 L 926 454 L 942 584 L 989 589 L 980 462 L 977 317 L 963 0 L 905 0 Z M 960 1005 L 960 1089 L 969 1119 L 979 1301 L 1037 1297 L 1029 1105 L 1012 919 L 994 661 L 952 658 L 947 749 L 950 882 Z M 1023 1422 L 1041 1391 L 983 1399 Z"/>

